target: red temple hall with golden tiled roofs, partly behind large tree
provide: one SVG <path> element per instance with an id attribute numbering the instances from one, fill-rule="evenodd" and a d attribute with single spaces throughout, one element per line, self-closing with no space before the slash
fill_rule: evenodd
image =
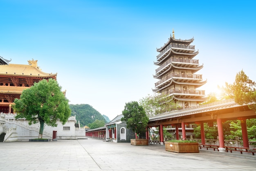
<path id="1" fill-rule="evenodd" d="M 0 112 L 13 113 L 11 105 L 15 98 L 20 98 L 24 89 L 34 82 L 49 78 L 55 79 L 56 74 L 45 73 L 37 66 L 37 60 L 28 60 L 27 65 L 9 64 L 11 60 L 0 57 Z"/>

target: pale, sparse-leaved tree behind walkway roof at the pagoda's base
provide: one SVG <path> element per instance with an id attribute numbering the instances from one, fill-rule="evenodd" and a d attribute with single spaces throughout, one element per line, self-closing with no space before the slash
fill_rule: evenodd
<path id="1" fill-rule="evenodd" d="M 148 94 L 148 96 L 139 100 L 139 105 L 144 108 L 148 117 L 178 109 L 172 97 L 157 94 Z"/>

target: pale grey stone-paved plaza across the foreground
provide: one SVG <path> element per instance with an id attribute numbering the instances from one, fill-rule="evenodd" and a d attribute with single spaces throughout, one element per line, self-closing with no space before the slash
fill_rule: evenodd
<path id="1" fill-rule="evenodd" d="M 200 150 L 173 153 L 164 146 L 132 146 L 93 138 L 51 142 L 0 143 L 0 171 L 245 171 L 256 158 Z"/>

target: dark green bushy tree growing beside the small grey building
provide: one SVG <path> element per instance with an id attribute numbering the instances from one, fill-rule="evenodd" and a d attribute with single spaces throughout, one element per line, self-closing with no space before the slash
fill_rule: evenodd
<path id="1" fill-rule="evenodd" d="M 126 103 L 122 114 L 124 117 L 121 118 L 121 121 L 126 122 L 128 129 L 132 129 L 132 131 L 135 131 L 138 135 L 146 132 L 148 116 L 138 102 L 132 101 Z"/>

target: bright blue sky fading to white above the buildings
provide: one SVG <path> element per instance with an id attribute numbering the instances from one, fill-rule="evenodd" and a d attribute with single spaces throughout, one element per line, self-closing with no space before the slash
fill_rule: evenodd
<path id="1" fill-rule="evenodd" d="M 194 38 L 206 93 L 236 73 L 256 81 L 254 0 L 0 0 L 0 56 L 38 60 L 70 104 L 90 104 L 110 120 L 125 103 L 152 94 L 156 48 Z"/>

